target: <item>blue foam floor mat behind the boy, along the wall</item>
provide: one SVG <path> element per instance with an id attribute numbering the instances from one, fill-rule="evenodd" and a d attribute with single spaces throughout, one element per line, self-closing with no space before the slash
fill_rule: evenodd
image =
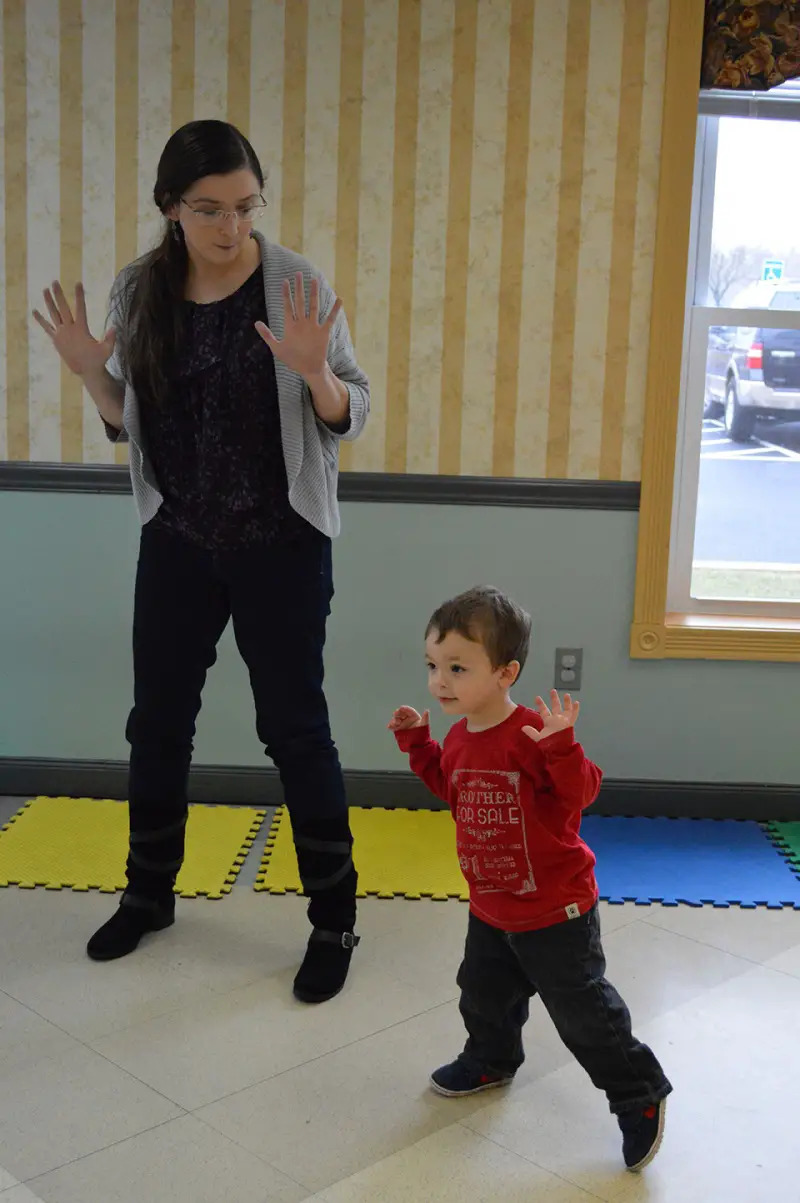
<path id="1" fill-rule="evenodd" d="M 609 902 L 800 909 L 800 877 L 758 823 L 587 814 L 581 835 Z"/>

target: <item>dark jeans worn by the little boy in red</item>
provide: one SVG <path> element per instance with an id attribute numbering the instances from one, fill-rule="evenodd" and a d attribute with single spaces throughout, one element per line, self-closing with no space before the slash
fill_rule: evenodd
<path id="1" fill-rule="evenodd" d="M 606 982 L 597 907 L 538 931 L 498 931 L 469 915 L 458 970 L 461 1014 L 469 1038 L 463 1061 L 512 1074 L 522 1065 L 522 1026 L 539 995 L 562 1041 L 611 1110 L 656 1103 L 671 1086 L 630 1031 L 630 1014 Z"/>

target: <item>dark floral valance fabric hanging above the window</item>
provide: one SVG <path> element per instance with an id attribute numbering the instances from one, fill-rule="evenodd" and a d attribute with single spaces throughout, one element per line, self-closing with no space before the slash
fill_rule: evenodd
<path id="1" fill-rule="evenodd" d="M 701 88 L 766 91 L 800 76 L 800 0 L 706 0 Z"/>

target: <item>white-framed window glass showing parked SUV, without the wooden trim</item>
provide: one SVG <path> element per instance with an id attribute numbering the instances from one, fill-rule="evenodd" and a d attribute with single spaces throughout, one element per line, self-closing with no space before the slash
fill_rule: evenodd
<path id="1" fill-rule="evenodd" d="M 800 87 L 783 89 L 780 117 L 755 101 L 754 117 L 699 119 L 674 614 L 790 617 L 800 604 Z"/>

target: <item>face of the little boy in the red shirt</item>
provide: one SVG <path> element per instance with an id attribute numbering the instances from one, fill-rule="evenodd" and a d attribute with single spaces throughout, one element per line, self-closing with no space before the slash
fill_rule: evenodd
<path id="1" fill-rule="evenodd" d="M 492 668 L 482 644 L 451 630 L 438 641 L 432 630 L 425 641 L 428 664 L 428 689 L 442 705 L 445 715 L 480 716 L 492 710 L 505 697 L 518 676 L 516 660 L 503 668 Z"/>

